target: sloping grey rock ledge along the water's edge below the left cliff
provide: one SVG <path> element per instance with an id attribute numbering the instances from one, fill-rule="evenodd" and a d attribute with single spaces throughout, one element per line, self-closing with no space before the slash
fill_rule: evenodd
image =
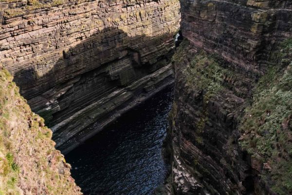
<path id="1" fill-rule="evenodd" d="M 116 90 L 97 100 L 51 127 L 56 146 L 63 153 L 69 152 L 129 109 L 172 84 L 173 81 L 173 70 L 169 64 L 149 76 L 134 81 L 126 88 Z M 92 125 L 88 126 L 89 123 Z"/>

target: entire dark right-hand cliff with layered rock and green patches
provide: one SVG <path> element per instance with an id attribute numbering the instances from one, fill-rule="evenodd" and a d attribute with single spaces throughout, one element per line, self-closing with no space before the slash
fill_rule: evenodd
<path id="1" fill-rule="evenodd" d="M 181 15 L 172 193 L 291 194 L 292 2 L 182 0 Z"/>

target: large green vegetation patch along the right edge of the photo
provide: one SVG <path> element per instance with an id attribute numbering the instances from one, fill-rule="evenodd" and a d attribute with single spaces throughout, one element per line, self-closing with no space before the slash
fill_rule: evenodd
<path id="1" fill-rule="evenodd" d="M 274 192 L 286 195 L 292 191 L 292 39 L 281 44 L 277 56 L 277 65 L 257 83 L 239 129 L 242 148 L 271 166 L 263 178 L 273 181 Z"/>

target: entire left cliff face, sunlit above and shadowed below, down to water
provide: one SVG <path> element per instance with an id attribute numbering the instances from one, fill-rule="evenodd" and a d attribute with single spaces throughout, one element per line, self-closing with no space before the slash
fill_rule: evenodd
<path id="1" fill-rule="evenodd" d="M 178 0 L 4 0 L 0 61 L 57 147 L 69 149 L 172 82 L 179 7 Z"/>

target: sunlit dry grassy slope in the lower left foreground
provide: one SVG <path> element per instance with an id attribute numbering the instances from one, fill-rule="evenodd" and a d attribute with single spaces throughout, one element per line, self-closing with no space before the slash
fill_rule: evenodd
<path id="1" fill-rule="evenodd" d="M 0 65 L 0 195 L 80 195 L 52 132 Z"/>

